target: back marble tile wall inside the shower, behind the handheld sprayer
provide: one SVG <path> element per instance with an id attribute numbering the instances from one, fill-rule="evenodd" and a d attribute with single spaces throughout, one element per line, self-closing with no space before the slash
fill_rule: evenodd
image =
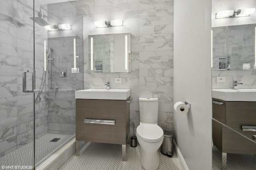
<path id="1" fill-rule="evenodd" d="M 74 2 L 49 4 L 48 10 L 64 21 L 49 16 L 53 24 L 69 23 L 71 30 L 49 31 L 48 48 L 52 48 L 52 86 L 58 86 L 54 100 L 48 100 L 48 133 L 75 134 L 76 100 L 75 90 L 83 89 L 83 17 L 77 15 Z M 74 39 L 76 39 L 76 66 L 79 73 L 71 73 L 74 68 Z M 66 72 L 63 77 L 61 72 Z M 54 96 L 54 90 L 48 92 Z"/>

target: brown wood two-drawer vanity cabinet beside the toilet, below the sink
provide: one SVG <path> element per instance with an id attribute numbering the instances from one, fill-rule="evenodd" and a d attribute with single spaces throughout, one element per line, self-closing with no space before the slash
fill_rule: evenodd
<path id="1" fill-rule="evenodd" d="M 76 99 L 76 141 L 126 144 L 130 132 L 127 100 Z M 85 119 L 114 120 L 114 125 L 85 123 Z"/>

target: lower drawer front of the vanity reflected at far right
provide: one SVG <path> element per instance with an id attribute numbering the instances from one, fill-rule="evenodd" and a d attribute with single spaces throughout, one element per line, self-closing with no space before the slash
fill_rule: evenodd
<path id="1" fill-rule="evenodd" d="M 232 129 L 242 133 L 250 139 L 252 139 L 252 135 L 256 135 L 256 132 L 242 131 L 239 127 L 232 127 Z M 238 133 L 226 127 L 222 127 L 222 152 L 254 154 L 256 153 L 256 143 L 242 137 Z"/>

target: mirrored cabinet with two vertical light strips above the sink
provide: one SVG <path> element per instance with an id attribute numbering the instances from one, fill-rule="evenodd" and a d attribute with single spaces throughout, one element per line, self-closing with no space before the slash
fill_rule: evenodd
<path id="1" fill-rule="evenodd" d="M 88 35 L 89 72 L 130 72 L 131 34 Z"/>

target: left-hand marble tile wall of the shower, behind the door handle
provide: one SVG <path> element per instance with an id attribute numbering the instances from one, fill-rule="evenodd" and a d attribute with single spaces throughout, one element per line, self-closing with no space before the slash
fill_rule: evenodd
<path id="1" fill-rule="evenodd" d="M 33 98 L 22 92 L 22 70 L 33 69 L 33 1 L 2 1 L 0 6 L 0 156 L 32 141 Z M 42 72 L 42 46 L 47 34 L 35 26 L 36 84 Z M 31 79 L 28 77 L 28 79 Z M 36 86 L 38 88 L 38 86 Z M 47 105 L 36 105 L 36 137 L 47 132 Z"/>

